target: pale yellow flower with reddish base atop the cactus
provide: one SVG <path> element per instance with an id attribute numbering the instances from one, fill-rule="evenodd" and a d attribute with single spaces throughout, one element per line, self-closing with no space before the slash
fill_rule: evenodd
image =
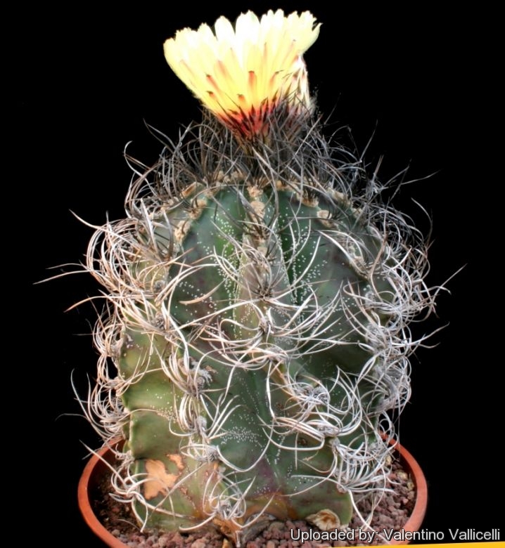
<path id="1" fill-rule="evenodd" d="M 179 30 L 165 41 L 175 74 L 219 119 L 244 136 L 267 133 L 267 117 L 280 104 L 310 110 L 302 55 L 319 34 L 312 13 L 269 11 L 261 20 L 242 13 L 235 27 L 224 17 L 198 30 Z"/>

